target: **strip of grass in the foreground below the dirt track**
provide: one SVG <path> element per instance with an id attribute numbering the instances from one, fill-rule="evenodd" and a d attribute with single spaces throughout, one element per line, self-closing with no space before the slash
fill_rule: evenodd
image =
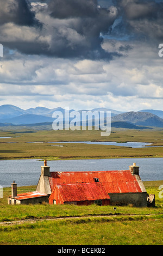
<path id="1" fill-rule="evenodd" d="M 1 228 L 1 245 L 162 245 L 162 220 L 89 218 Z"/>

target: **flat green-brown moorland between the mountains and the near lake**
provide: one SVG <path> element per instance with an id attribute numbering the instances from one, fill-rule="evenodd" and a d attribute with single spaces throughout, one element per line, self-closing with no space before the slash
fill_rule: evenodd
<path id="1" fill-rule="evenodd" d="M 0 159 L 105 159 L 116 157 L 163 157 L 162 130 L 114 130 L 108 137 L 101 131 L 1 131 Z M 66 141 L 115 141 L 115 146 L 61 143 Z M 53 142 L 58 142 L 54 144 Z M 148 142 L 160 147 L 129 148 L 123 142 Z M 120 144 L 120 145 L 118 145 Z M 58 147 L 61 146 L 61 147 Z"/>

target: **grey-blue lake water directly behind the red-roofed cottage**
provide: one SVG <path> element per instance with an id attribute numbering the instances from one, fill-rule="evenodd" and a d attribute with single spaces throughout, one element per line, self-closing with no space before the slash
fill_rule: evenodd
<path id="1" fill-rule="evenodd" d="M 126 170 L 134 162 L 140 166 L 140 176 L 143 181 L 163 180 L 163 158 L 59 160 L 48 161 L 47 165 L 51 167 L 51 172 L 81 172 Z M 42 165 L 43 161 L 34 159 L 0 161 L 0 185 L 9 187 L 14 180 L 17 186 L 37 185 Z"/>

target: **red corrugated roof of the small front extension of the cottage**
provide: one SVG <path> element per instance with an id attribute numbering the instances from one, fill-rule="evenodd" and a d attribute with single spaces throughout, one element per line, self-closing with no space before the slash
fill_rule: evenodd
<path id="1" fill-rule="evenodd" d="M 54 190 L 59 190 L 64 202 L 79 202 L 110 199 L 101 182 L 80 184 L 58 184 Z"/>

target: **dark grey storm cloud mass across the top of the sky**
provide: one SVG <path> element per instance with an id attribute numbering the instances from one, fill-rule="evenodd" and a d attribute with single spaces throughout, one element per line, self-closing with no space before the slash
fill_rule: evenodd
<path id="1" fill-rule="evenodd" d="M 102 48 L 105 35 L 128 41 L 163 39 L 163 3 L 154 0 L 1 0 L 1 4 L 1 43 L 25 54 L 111 59 L 121 55 Z M 16 26 L 22 29 L 20 34 Z M 127 45 L 121 53 L 130 50 Z"/>

